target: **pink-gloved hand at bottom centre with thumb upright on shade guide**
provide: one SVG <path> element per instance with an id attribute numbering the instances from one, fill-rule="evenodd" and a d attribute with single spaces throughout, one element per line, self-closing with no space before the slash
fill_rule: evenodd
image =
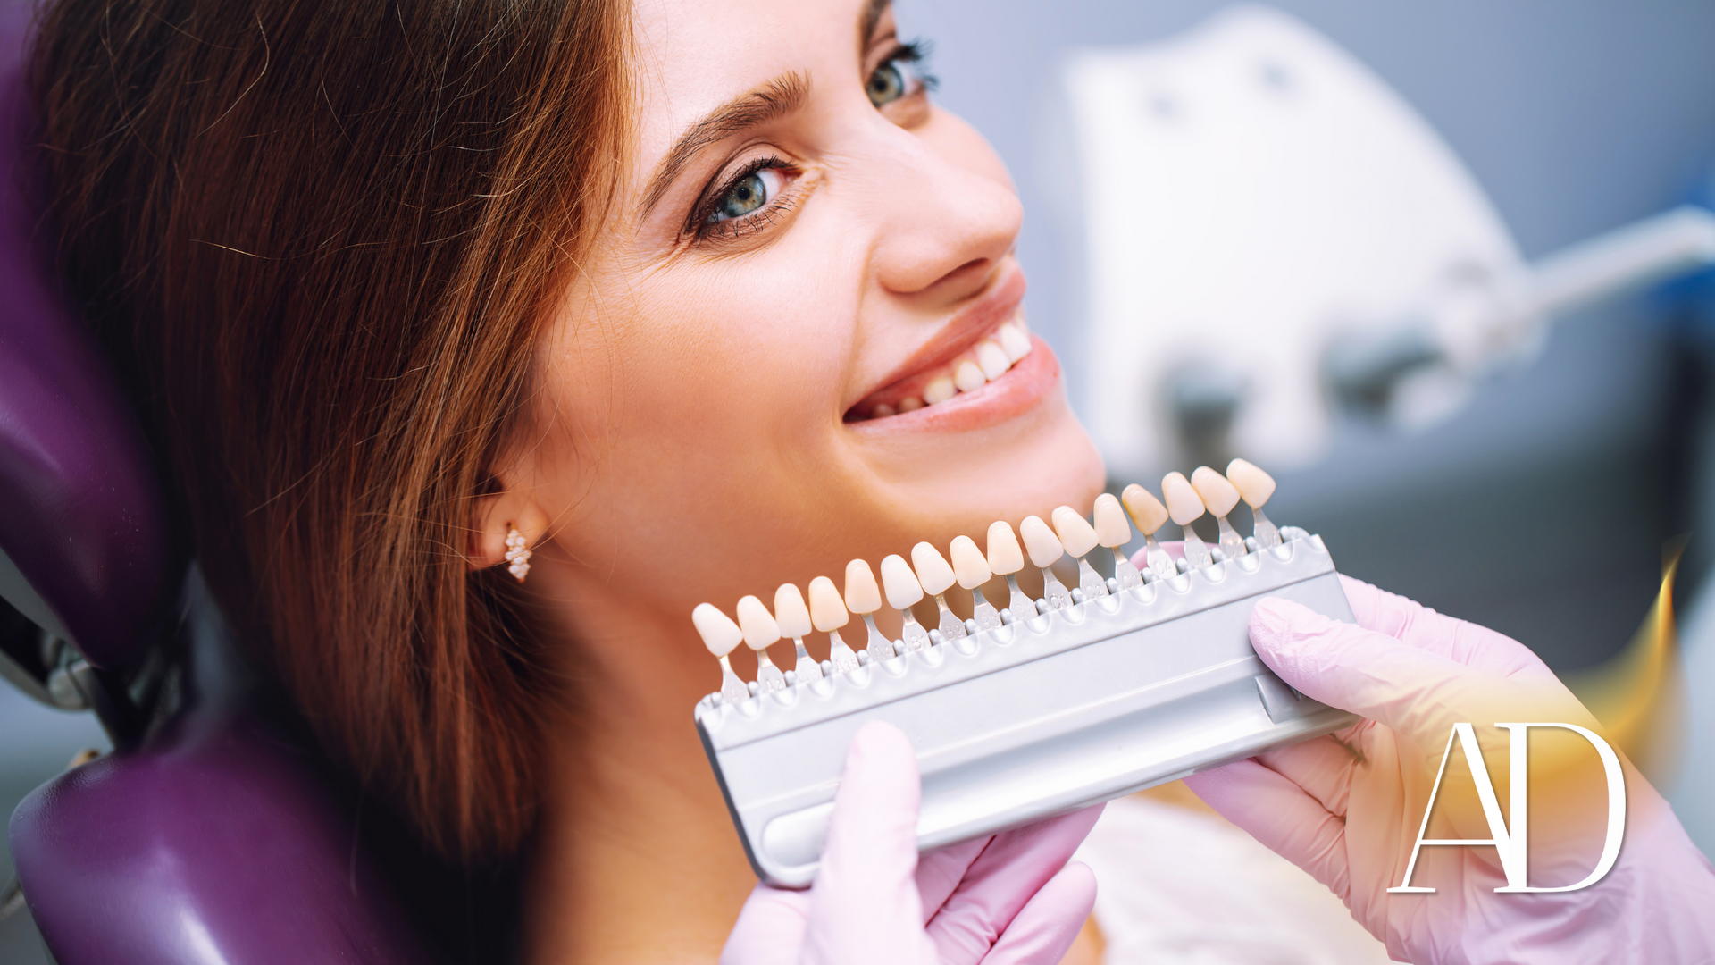
<path id="1" fill-rule="evenodd" d="M 921 795 L 906 735 L 864 725 L 845 756 L 815 884 L 758 884 L 720 951 L 722 965 L 1060 962 L 1096 903 L 1089 867 L 1067 860 L 1101 807 L 919 860 Z"/>

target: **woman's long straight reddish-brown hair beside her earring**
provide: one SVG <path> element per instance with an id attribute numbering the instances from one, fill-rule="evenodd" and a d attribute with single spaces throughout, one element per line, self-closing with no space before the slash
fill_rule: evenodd
<path id="1" fill-rule="evenodd" d="M 33 91 L 74 294 L 194 549 L 439 853 L 530 829 L 545 680 L 473 500 L 619 179 L 624 0 L 60 0 Z"/>

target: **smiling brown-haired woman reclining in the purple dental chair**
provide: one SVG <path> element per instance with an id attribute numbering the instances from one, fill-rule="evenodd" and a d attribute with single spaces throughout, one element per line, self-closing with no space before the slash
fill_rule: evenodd
<path id="1" fill-rule="evenodd" d="M 753 889 L 696 603 L 1103 486 L 919 57 L 885 0 L 46 14 L 65 270 L 223 610 L 432 848 L 528 841 L 532 962 L 708 960 Z"/>

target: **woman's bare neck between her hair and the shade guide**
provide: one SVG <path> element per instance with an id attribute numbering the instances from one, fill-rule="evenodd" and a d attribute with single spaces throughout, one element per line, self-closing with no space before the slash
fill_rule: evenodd
<path id="1" fill-rule="evenodd" d="M 527 960 L 715 962 L 756 877 L 691 721 L 713 661 L 683 616 L 540 589 L 576 599 L 563 608 L 576 613 L 566 668 L 576 709 L 545 742 Z"/>

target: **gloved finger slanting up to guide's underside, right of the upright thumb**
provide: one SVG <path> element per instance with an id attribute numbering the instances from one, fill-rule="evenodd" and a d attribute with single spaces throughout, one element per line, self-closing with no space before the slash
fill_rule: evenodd
<path id="1" fill-rule="evenodd" d="M 981 962 L 1019 910 L 1060 874 L 1098 817 L 1101 805 L 995 835 L 926 926 L 940 960 Z"/>

